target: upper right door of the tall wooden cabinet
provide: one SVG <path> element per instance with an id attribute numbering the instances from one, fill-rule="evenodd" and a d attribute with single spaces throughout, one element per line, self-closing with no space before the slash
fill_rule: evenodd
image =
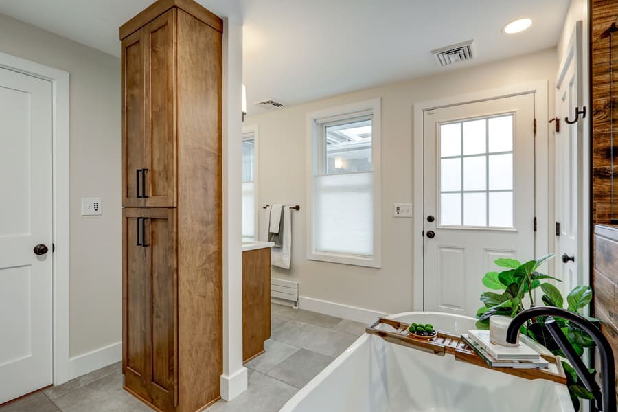
<path id="1" fill-rule="evenodd" d="M 176 9 L 146 25 L 144 205 L 176 206 Z"/>

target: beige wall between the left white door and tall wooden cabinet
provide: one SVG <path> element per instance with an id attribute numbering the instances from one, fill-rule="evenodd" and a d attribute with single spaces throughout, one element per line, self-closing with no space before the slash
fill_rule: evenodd
<path id="1" fill-rule="evenodd" d="M 3 14 L 0 52 L 70 73 L 69 356 L 117 343 L 122 339 L 120 60 Z M 81 216 L 82 197 L 101 197 L 102 216 Z"/>

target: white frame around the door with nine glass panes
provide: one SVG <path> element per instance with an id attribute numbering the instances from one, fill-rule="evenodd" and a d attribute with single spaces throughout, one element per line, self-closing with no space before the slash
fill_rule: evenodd
<path id="1" fill-rule="evenodd" d="M 536 144 L 535 144 L 535 211 L 538 217 L 535 254 L 544 255 L 549 250 L 549 197 L 553 195 L 553 189 L 549 185 L 549 168 L 553 168 L 553 161 L 549 158 L 549 139 L 547 114 L 548 80 L 537 80 L 524 84 L 517 84 L 499 89 L 477 91 L 464 95 L 450 96 L 437 100 L 428 100 L 413 105 L 413 310 L 424 310 L 424 254 L 423 236 L 424 228 L 424 111 L 432 108 L 455 106 L 459 104 L 479 102 L 496 98 L 506 98 L 511 95 L 523 93 L 536 93 L 534 99 L 534 117 L 537 119 Z M 530 125 L 532 127 L 532 125 Z M 551 190 L 551 192 L 550 192 Z M 530 222 L 532 224 L 532 222 Z M 545 236 L 542 234 L 545 233 Z M 553 242 L 552 242 L 553 244 Z"/>

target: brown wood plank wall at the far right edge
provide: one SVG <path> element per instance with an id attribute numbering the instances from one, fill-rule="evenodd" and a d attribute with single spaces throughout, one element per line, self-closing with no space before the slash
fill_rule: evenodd
<path id="1" fill-rule="evenodd" d="M 615 84 L 610 97 L 610 38 L 607 30 L 618 24 L 617 0 L 593 0 L 591 7 L 592 51 L 592 127 L 593 127 L 593 223 L 595 224 L 593 256 L 593 289 L 595 317 L 602 321 L 602 331 L 614 348 L 618 359 L 618 227 L 605 226 L 611 219 L 612 160 L 618 176 L 618 32 L 614 35 L 613 64 Z M 613 144 L 610 144 L 611 106 L 614 110 Z M 618 187 L 617 187 L 618 189 Z M 618 217 L 618 216 L 617 216 Z M 599 225 L 602 224 L 602 225 Z M 598 360 L 598 356 L 597 356 Z M 615 364 L 618 370 L 618 362 Z M 618 398 L 618 381 L 616 382 Z"/>

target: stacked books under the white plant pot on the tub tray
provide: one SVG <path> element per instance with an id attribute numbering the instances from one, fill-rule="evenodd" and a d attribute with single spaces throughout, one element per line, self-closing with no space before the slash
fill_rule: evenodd
<path id="1" fill-rule="evenodd" d="M 549 366 L 536 350 L 525 343 L 514 347 L 492 343 L 489 330 L 468 330 L 467 334 L 461 335 L 461 340 L 490 367 L 538 369 Z"/>

